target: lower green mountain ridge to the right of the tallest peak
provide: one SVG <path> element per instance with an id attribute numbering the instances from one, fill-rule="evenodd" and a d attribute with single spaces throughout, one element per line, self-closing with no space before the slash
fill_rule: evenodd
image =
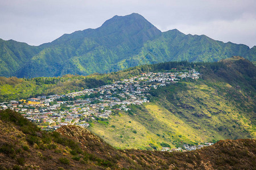
<path id="1" fill-rule="evenodd" d="M 146 42 L 139 54 L 129 58 L 129 61 L 138 65 L 166 61 L 214 62 L 230 56 L 244 56 L 251 61 L 256 59 L 254 48 L 249 49 L 246 45 L 215 41 L 205 35 L 184 35 L 174 29 Z M 125 62 L 121 61 L 118 65 Z"/>

